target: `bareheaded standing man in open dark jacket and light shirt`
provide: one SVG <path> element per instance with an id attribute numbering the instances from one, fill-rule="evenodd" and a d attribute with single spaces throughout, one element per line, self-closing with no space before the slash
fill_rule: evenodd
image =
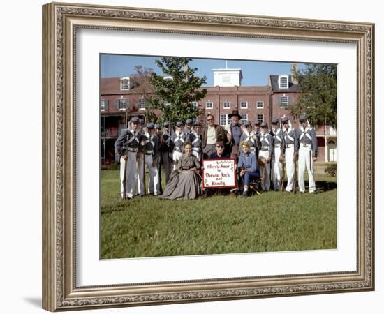
<path id="1" fill-rule="evenodd" d="M 207 125 L 202 129 L 202 153 L 207 159 L 215 150 L 217 141 L 226 142 L 226 130 L 214 123 L 213 114 L 207 114 Z"/>

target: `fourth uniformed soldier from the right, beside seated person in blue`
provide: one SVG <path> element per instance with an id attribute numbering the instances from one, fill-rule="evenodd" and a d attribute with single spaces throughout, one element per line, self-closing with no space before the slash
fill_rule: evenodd
<path id="1" fill-rule="evenodd" d="M 272 135 L 268 132 L 268 124 L 263 121 L 261 124 L 261 132 L 260 132 L 260 152 L 258 159 L 264 161 L 265 167 L 265 179 L 261 181 L 261 188 L 263 190 L 269 190 L 271 186 L 271 159 L 272 159 L 272 151 L 273 147 L 273 139 Z"/>

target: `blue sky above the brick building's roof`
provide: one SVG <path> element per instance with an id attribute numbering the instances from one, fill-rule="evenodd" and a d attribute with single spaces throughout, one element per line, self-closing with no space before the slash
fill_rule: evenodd
<path id="1" fill-rule="evenodd" d="M 141 65 L 152 68 L 156 73 L 162 75 L 160 68 L 156 66 L 155 60 L 160 57 L 128 56 L 118 54 L 101 54 L 101 77 L 124 77 L 134 73 L 133 68 Z M 268 84 L 268 75 L 290 74 L 290 63 L 272 61 L 241 61 L 227 60 L 228 68 L 242 69 L 242 86 L 263 86 Z M 198 59 L 194 58 L 191 67 L 198 68 L 196 75 L 206 76 L 207 84 L 213 86 L 213 68 L 226 68 L 224 59 Z M 302 66 L 301 64 L 299 65 Z"/>

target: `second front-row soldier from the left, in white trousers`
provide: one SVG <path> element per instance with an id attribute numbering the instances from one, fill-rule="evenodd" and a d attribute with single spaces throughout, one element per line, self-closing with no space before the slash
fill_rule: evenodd
<path id="1" fill-rule="evenodd" d="M 158 138 L 154 134 L 155 126 L 152 123 L 147 124 L 147 134 L 142 137 L 145 145 L 142 147 L 142 152 L 145 157 L 145 165 L 149 170 L 149 184 L 148 193 L 159 195 L 158 187 L 158 171 L 156 167 L 157 151 L 158 151 Z M 138 164 L 138 193 L 140 196 L 145 194 L 144 190 L 144 171 L 143 163 Z"/>

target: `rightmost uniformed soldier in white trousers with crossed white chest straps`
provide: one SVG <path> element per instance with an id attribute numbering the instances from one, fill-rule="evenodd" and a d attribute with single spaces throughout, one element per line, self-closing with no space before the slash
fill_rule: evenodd
<path id="1" fill-rule="evenodd" d="M 316 184 L 313 172 L 313 162 L 317 160 L 318 141 L 316 132 L 311 127 L 306 114 L 299 118 L 300 128 L 296 130 L 297 152 L 299 154 L 299 190 L 304 193 L 304 172 L 307 169 L 309 177 L 309 193 L 315 193 Z"/>

